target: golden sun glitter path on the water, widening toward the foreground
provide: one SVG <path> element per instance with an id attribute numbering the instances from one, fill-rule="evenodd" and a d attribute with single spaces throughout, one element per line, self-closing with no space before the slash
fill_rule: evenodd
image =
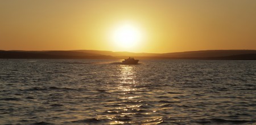
<path id="1" fill-rule="evenodd" d="M 147 103 L 147 88 L 139 83 L 138 69 L 138 65 L 118 66 L 118 83 L 111 91 L 116 100 L 109 102 L 111 108 L 107 116 L 112 120 L 110 124 L 158 124 L 163 121 L 154 115 L 154 110 L 148 110 L 152 105 Z"/>

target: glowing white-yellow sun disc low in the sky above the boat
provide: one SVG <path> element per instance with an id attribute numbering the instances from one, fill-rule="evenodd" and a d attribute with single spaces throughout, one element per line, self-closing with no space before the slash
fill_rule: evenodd
<path id="1" fill-rule="evenodd" d="M 119 25 L 113 33 L 113 41 L 122 48 L 131 48 L 138 45 L 141 37 L 139 28 L 132 24 Z"/>

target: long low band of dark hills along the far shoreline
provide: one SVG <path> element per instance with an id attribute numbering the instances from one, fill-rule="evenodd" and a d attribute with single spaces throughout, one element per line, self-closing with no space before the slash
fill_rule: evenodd
<path id="1" fill-rule="evenodd" d="M 177 53 L 130 53 L 100 50 L 22 51 L 0 50 L 1 59 L 217 59 L 256 60 L 256 50 L 201 50 Z"/>

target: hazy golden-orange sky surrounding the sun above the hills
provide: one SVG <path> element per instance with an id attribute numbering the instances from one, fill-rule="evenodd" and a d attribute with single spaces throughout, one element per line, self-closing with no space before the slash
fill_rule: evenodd
<path id="1" fill-rule="evenodd" d="M 112 38 L 127 22 L 141 37 L 130 48 Z M 256 1 L 0 1 L 0 50 L 77 49 L 256 49 Z"/>

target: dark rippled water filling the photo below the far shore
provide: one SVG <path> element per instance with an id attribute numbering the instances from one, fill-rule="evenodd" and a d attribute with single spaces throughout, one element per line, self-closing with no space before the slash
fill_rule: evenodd
<path id="1" fill-rule="evenodd" d="M 256 124 L 256 61 L 0 60 L 0 124 Z"/>

